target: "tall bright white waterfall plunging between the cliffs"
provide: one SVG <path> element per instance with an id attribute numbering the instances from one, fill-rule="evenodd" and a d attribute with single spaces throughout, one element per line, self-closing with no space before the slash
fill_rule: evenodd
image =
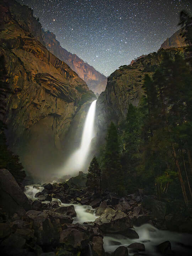
<path id="1" fill-rule="evenodd" d="M 73 154 L 71 154 L 69 159 L 66 161 L 66 164 L 64 166 L 65 173 L 75 174 L 84 167 L 87 155 L 89 153 L 91 140 L 92 138 L 94 138 L 96 101 L 97 100 L 91 103 L 91 106 L 87 113 L 80 148 L 76 150 Z"/>

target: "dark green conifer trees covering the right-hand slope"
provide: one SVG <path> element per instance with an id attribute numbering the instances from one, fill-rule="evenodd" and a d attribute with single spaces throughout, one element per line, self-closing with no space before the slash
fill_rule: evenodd
<path id="1" fill-rule="evenodd" d="M 161 50 L 161 65 L 145 75 L 139 105 L 129 104 L 118 127 L 111 123 L 102 159 L 94 158 L 87 176 L 95 191 L 124 195 L 145 188 L 159 199 L 192 201 L 192 17 L 181 12 L 180 25 L 185 56 Z M 94 166 L 100 182 L 91 183 Z"/>

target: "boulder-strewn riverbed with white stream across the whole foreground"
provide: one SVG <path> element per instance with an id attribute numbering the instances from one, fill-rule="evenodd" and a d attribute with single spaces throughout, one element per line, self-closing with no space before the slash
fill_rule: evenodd
<path id="1" fill-rule="evenodd" d="M 165 230 L 166 203 L 142 190 L 123 198 L 93 194 L 82 172 L 63 183 L 28 185 L 25 193 L 8 170 L 0 180 L 4 255 L 191 255 L 192 235 Z"/>

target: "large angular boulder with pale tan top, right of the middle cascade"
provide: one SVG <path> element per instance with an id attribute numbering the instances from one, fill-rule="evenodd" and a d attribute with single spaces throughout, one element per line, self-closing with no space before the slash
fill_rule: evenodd
<path id="1" fill-rule="evenodd" d="M 94 222 L 104 233 L 118 233 L 133 227 L 126 213 L 106 208 L 103 214 Z"/>

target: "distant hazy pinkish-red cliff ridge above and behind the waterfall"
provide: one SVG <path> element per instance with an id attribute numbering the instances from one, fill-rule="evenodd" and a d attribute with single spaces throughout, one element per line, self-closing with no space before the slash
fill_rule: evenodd
<path id="1" fill-rule="evenodd" d="M 62 48 L 60 43 L 56 40 L 55 34 L 49 31 L 43 31 L 43 41 L 46 44 L 47 49 L 53 53 L 60 60 L 67 63 L 71 69 L 73 69 L 80 78 L 82 78 L 89 89 L 97 94 L 105 91 L 107 84 L 107 78 L 103 74 L 94 69 L 93 66 L 85 63 L 76 54 L 72 54 Z"/>

